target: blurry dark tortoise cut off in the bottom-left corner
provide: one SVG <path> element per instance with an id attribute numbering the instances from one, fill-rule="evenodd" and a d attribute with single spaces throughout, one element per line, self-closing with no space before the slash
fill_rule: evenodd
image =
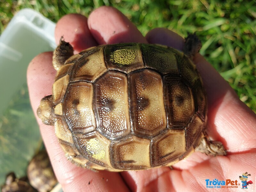
<path id="1" fill-rule="evenodd" d="M 27 182 L 27 178 L 17 179 L 13 172 L 6 175 L 5 184 L 1 192 L 36 192 Z"/>

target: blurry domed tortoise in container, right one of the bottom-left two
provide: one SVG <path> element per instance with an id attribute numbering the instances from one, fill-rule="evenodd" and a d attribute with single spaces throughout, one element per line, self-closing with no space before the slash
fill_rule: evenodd
<path id="1" fill-rule="evenodd" d="M 48 192 L 57 184 L 50 159 L 45 150 L 36 154 L 27 168 L 29 183 L 39 192 Z"/>

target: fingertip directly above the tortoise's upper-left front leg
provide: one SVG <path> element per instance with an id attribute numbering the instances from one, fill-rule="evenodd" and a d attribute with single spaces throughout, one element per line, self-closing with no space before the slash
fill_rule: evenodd
<path id="1" fill-rule="evenodd" d="M 57 44 L 61 36 L 73 46 L 75 54 L 98 45 L 88 28 L 87 18 L 80 14 L 65 15 L 57 22 L 55 28 Z"/>

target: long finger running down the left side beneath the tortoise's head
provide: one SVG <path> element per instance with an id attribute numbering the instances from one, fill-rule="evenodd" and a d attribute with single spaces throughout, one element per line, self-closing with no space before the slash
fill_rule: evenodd
<path id="1" fill-rule="evenodd" d="M 51 52 L 38 55 L 28 66 L 28 89 L 35 116 L 41 98 L 52 94 L 55 74 L 56 72 L 52 67 Z M 45 125 L 37 116 L 36 118 L 54 172 L 64 191 L 112 191 L 113 186 L 117 190 L 128 191 L 118 173 L 93 172 L 69 162 L 59 145 L 53 126 Z"/>

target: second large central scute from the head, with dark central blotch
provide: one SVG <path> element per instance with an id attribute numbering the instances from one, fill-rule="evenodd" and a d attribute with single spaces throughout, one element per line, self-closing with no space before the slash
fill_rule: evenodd
<path id="1" fill-rule="evenodd" d="M 98 130 L 108 139 L 118 139 L 131 132 L 127 77 L 109 70 L 94 84 L 94 109 Z"/>

